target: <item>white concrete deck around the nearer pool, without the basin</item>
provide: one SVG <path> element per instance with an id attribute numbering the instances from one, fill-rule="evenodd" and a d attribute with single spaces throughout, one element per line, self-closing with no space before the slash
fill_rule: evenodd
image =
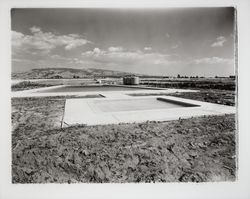
<path id="1" fill-rule="evenodd" d="M 152 109 L 136 111 L 102 112 L 96 106 L 96 101 L 109 101 L 111 99 L 135 99 L 131 96 L 121 95 L 113 98 L 101 99 L 67 99 L 63 126 L 85 124 L 85 125 L 106 125 L 119 123 L 133 123 L 145 121 L 169 121 L 179 118 L 190 118 L 204 115 L 223 115 L 235 113 L 235 107 L 218 105 L 196 100 L 183 99 L 172 96 L 161 96 L 161 98 L 174 100 L 182 103 L 198 105 L 197 107 L 180 107 L 172 109 Z M 136 97 L 136 99 L 156 98 L 156 96 Z"/>

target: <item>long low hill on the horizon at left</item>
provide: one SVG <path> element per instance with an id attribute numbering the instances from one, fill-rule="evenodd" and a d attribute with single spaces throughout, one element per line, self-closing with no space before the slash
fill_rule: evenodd
<path id="1" fill-rule="evenodd" d="M 103 69 L 39 68 L 27 72 L 12 73 L 12 79 L 71 79 L 93 77 L 123 77 L 133 73 Z"/>

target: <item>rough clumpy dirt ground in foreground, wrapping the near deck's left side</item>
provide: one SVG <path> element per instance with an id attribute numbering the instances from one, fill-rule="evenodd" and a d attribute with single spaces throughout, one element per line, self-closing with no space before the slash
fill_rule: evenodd
<path id="1" fill-rule="evenodd" d="M 236 179 L 235 115 L 61 129 L 65 98 L 12 99 L 12 182 Z"/>

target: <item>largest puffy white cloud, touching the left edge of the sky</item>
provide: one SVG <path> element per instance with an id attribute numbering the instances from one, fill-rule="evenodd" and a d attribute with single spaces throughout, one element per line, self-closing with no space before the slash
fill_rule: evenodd
<path id="1" fill-rule="evenodd" d="M 55 35 L 51 32 L 43 32 L 39 27 L 31 27 L 31 35 L 12 31 L 13 51 L 25 51 L 36 54 L 49 53 L 52 49 L 63 47 L 65 50 L 71 50 L 83 46 L 90 41 L 77 34 Z"/>

